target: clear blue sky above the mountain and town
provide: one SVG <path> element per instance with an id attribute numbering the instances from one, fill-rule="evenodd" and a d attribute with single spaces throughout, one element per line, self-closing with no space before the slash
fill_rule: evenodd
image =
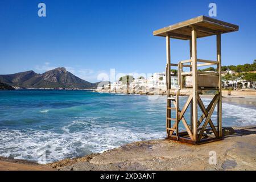
<path id="1" fill-rule="evenodd" d="M 38 16 L 44 2 L 47 17 Z M 152 32 L 199 15 L 217 4 L 216 19 L 240 26 L 222 35 L 222 65 L 256 59 L 256 1 L 1 0 L 0 74 L 66 67 L 85 80 L 97 74 L 163 72 L 165 39 Z M 198 40 L 198 57 L 216 59 L 215 37 Z M 188 58 L 188 42 L 172 40 L 171 60 Z"/>

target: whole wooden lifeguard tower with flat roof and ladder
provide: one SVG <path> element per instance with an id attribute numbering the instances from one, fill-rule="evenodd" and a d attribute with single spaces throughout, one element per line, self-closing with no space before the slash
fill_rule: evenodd
<path id="1" fill-rule="evenodd" d="M 234 31 L 238 31 L 238 26 L 207 16 L 198 16 L 154 31 L 153 34 L 155 36 L 166 38 L 167 138 L 191 144 L 222 139 L 221 34 Z M 216 35 L 217 60 L 197 59 L 197 38 L 212 35 Z M 188 60 L 182 60 L 176 64 L 171 63 L 170 38 L 189 40 L 190 58 Z M 197 67 L 210 65 L 217 65 L 217 72 L 201 72 L 197 70 Z M 178 89 L 171 88 L 171 67 L 177 67 Z M 188 69 L 188 71 L 184 71 L 184 69 Z M 180 94 L 188 96 L 188 100 L 181 110 L 179 108 Z M 205 107 L 200 98 L 201 94 L 214 95 L 207 107 Z M 184 115 L 189 105 L 191 112 L 190 123 L 186 121 Z M 216 105 L 217 126 L 214 126 L 211 117 Z M 202 114 L 200 117 L 198 117 L 199 112 L 197 106 L 201 109 Z M 173 117 L 171 117 L 171 110 L 176 111 Z M 185 131 L 179 131 L 180 121 L 183 123 Z M 209 129 L 207 129 L 208 124 L 210 126 Z"/>

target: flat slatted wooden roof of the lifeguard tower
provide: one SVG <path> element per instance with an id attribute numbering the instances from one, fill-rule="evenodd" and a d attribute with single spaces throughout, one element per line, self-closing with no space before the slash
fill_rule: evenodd
<path id="1" fill-rule="evenodd" d="M 238 31 L 239 28 L 236 24 L 222 22 L 202 15 L 156 30 L 153 35 L 164 37 L 169 35 L 170 38 L 189 40 L 191 39 L 191 27 L 196 28 L 197 38 L 234 32 Z"/>

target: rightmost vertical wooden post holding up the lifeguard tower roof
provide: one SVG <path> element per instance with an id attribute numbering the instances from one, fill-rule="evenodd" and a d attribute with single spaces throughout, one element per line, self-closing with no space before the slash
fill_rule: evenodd
<path id="1" fill-rule="evenodd" d="M 217 105 L 217 123 L 218 123 L 218 137 L 222 137 L 222 93 L 221 93 L 221 34 L 217 34 L 217 61 L 218 61 L 218 89 L 220 92 L 220 98 Z"/>

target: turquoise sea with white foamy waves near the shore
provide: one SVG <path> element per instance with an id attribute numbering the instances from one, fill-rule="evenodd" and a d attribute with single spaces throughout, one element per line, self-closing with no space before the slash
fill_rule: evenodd
<path id="1" fill-rule="evenodd" d="M 180 105 L 185 101 L 182 97 Z M 207 104 L 210 99 L 203 101 Z M 224 103 L 222 115 L 224 126 L 256 123 L 254 107 Z M 1 91 L 0 156 L 49 163 L 164 138 L 165 117 L 165 96 L 84 90 Z M 189 121 L 189 115 L 185 118 Z M 214 111 L 213 121 L 216 118 Z"/>

